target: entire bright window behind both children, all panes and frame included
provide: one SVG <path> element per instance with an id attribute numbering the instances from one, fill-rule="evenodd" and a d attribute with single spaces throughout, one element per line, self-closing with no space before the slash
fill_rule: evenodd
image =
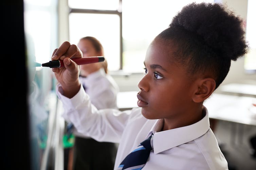
<path id="1" fill-rule="evenodd" d="M 168 27 L 172 17 L 184 5 L 194 1 L 120 0 L 119 4 L 116 0 L 108 1 L 107 4 L 104 0 L 81 2 L 69 0 L 71 43 L 77 44 L 79 38 L 91 35 L 102 42 L 110 71 L 122 69 L 129 73 L 142 73 L 146 50 L 153 38 Z M 110 11 L 113 14 L 109 14 Z"/>

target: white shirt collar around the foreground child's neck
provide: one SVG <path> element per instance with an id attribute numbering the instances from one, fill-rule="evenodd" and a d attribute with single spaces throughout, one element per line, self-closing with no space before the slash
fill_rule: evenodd
<path id="1" fill-rule="evenodd" d="M 206 114 L 200 121 L 188 126 L 183 126 L 175 129 L 160 131 L 163 126 L 163 119 L 159 119 L 153 125 L 150 131 L 154 134 L 154 153 L 157 154 L 163 152 L 165 150 L 195 140 L 200 136 L 204 135 L 210 127 L 208 111 L 205 107 L 204 109 L 206 111 Z"/>

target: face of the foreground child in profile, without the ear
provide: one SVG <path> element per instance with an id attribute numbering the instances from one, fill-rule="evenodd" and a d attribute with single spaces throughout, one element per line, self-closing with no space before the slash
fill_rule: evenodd
<path id="1" fill-rule="evenodd" d="M 183 119 L 191 112 L 193 82 L 173 59 L 171 48 L 168 46 L 167 50 L 165 44 L 156 39 L 147 50 L 145 75 L 138 83 L 137 95 L 137 104 L 147 119 Z"/>

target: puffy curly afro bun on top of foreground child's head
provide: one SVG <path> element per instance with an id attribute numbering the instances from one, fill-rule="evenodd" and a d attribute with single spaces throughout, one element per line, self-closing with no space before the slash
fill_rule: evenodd
<path id="1" fill-rule="evenodd" d="M 226 59 L 237 60 L 247 52 L 242 19 L 219 3 L 191 3 L 172 19 L 169 27 L 183 27 Z"/>

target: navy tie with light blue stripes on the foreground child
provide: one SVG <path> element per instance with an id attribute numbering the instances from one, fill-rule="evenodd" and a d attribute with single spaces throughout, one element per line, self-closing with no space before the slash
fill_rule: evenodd
<path id="1" fill-rule="evenodd" d="M 121 162 L 117 170 L 141 170 L 149 157 L 150 151 L 153 149 L 153 134 L 141 142 L 141 144 L 128 154 Z"/>

